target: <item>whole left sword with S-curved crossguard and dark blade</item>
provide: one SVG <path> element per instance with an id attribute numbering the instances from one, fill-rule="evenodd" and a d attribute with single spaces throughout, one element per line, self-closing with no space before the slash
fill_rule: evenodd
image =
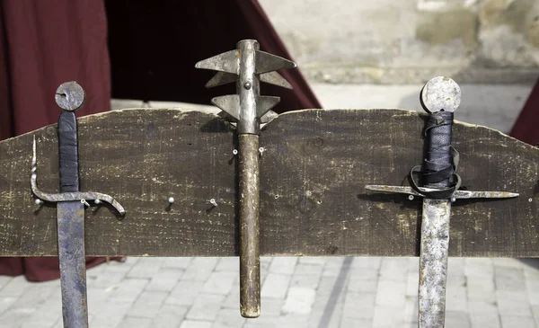
<path id="1" fill-rule="evenodd" d="M 58 150 L 60 192 L 42 192 L 37 185 L 36 139 L 33 139 L 31 160 L 31 191 L 36 203 L 57 202 L 58 257 L 62 288 L 62 315 L 64 327 L 87 328 L 88 306 L 86 297 L 86 260 L 84 256 L 84 206 L 103 201 L 118 210 L 126 211 L 109 195 L 79 191 L 78 140 L 75 111 L 84 104 L 83 88 L 75 82 L 61 84 L 56 93 L 57 105 L 64 111 L 58 120 Z M 121 217 L 119 217 L 121 219 Z"/>

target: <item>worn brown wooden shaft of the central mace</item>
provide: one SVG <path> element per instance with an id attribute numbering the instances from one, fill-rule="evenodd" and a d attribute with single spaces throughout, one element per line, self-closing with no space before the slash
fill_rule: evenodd
<path id="1" fill-rule="evenodd" d="M 261 314 L 259 136 L 238 135 L 240 191 L 240 312 Z"/>

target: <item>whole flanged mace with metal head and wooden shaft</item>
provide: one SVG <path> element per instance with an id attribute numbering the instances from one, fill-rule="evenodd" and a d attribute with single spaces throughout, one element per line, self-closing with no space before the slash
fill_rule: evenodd
<path id="1" fill-rule="evenodd" d="M 256 40 L 241 40 L 235 50 L 199 61 L 197 68 L 217 74 L 206 87 L 236 83 L 236 93 L 216 97 L 211 102 L 225 111 L 225 117 L 237 123 L 239 150 L 239 220 L 240 220 L 240 312 L 248 318 L 261 313 L 261 267 L 259 244 L 260 177 L 259 135 L 261 123 L 277 113 L 271 109 L 279 97 L 261 96 L 260 82 L 292 89 L 278 69 L 296 64 L 260 50 Z"/>

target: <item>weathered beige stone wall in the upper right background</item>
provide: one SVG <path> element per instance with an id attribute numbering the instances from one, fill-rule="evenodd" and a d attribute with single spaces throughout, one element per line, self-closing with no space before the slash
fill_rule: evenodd
<path id="1" fill-rule="evenodd" d="M 260 0 L 311 81 L 529 84 L 539 0 Z"/>

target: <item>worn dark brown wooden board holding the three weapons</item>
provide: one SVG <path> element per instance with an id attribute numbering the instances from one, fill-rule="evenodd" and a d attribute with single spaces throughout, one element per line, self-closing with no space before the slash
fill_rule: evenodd
<path id="1" fill-rule="evenodd" d="M 261 254 L 417 256 L 420 198 L 364 187 L 401 184 L 421 163 L 424 118 L 415 111 L 306 110 L 273 120 L 261 133 Z M 198 111 L 110 111 L 79 119 L 79 135 L 82 191 L 108 193 L 128 211 L 119 221 L 109 207 L 86 210 L 87 254 L 237 254 L 228 123 Z M 57 254 L 56 206 L 40 208 L 31 196 L 33 136 L 40 190 L 57 191 L 55 126 L 0 142 L 2 256 Z M 539 256 L 539 149 L 464 123 L 455 124 L 454 146 L 465 188 L 521 196 L 458 200 L 450 254 Z"/>

